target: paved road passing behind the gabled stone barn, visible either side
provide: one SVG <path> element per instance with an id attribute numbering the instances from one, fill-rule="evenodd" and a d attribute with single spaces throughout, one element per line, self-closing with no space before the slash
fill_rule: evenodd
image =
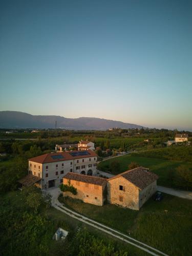
<path id="1" fill-rule="evenodd" d="M 105 176 L 105 177 L 108 177 L 108 178 L 112 178 L 112 177 L 115 176 L 113 174 L 102 172 L 101 170 L 97 170 L 97 171 L 102 176 Z M 162 186 L 157 186 L 157 190 L 160 191 L 160 192 L 163 192 L 165 194 L 175 196 L 175 197 L 180 197 L 180 198 L 192 200 L 192 191 L 183 191 L 183 190 L 177 190 L 177 189 L 174 189 L 174 188 L 162 187 Z"/>

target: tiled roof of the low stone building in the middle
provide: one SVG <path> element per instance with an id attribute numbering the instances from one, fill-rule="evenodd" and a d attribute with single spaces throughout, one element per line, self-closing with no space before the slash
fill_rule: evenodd
<path id="1" fill-rule="evenodd" d="M 89 175 L 82 175 L 82 174 L 75 174 L 75 173 L 67 173 L 63 178 L 69 179 L 69 180 L 81 181 L 84 183 L 95 184 L 99 186 L 106 184 L 106 179 L 104 178 L 89 176 Z"/>

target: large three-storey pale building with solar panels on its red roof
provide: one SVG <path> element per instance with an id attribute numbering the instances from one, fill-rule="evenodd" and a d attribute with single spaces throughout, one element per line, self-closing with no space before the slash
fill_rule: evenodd
<path id="1" fill-rule="evenodd" d="M 19 180 L 22 185 L 35 184 L 41 189 L 58 186 L 67 173 L 97 175 L 97 154 L 94 151 L 49 153 L 29 160 L 29 174 Z"/>

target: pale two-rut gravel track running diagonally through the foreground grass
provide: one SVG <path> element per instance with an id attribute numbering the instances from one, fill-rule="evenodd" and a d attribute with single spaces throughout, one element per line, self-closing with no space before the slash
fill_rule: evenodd
<path id="1" fill-rule="evenodd" d="M 56 208 L 57 210 L 60 210 L 61 212 L 63 212 L 64 214 L 70 216 L 71 218 L 74 218 L 74 219 L 77 219 L 78 221 L 81 221 L 87 225 L 90 225 L 92 227 L 95 227 L 99 230 L 101 230 L 102 232 L 105 232 L 105 233 L 108 233 L 110 234 L 111 236 L 115 237 L 115 238 L 118 238 L 122 241 L 124 241 L 125 243 L 128 243 L 128 244 L 131 244 L 151 255 L 154 255 L 154 256 L 158 256 L 158 255 L 164 255 L 164 256 L 168 256 L 167 254 L 147 245 L 147 244 L 144 244 L 130 236 L 126 236 L 126 234 L 123 234 L 113 228 L 110 228 L 108 226 L 105 226 L 99 222 L 96 222 L 92 219 L 89 219 L 87 217 L 84 217 L 80 214 L 78 214 L 77 212 L 73 211 L 73 210 L 70 210 L 68 209 L 67 207 L 63 206 L 61 203 L 59 203 L 58 201 L 58 196 L 60 194 L 60 189 L 58 187 L 56 188 L 51 188 L 51 189 L 48 189 L 47 190 L 47 193 L 50 193 L 52 195 L 52 206 L 54 208 Z"/>

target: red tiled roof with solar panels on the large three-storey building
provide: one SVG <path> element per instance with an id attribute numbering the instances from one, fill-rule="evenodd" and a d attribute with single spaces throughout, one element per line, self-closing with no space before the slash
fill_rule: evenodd
<path id="1" fill-rule="evenodd" d="M 52 162 L 59 162 L 59 161 L 66 161 L 66 160 L 73 160 L 73 159 L 79 159 L 79 158 L 87 158 L 87 157 L 97 157 L 97 154 L 92 150 L 87 150 L 86 152 L 89 152 L 89 155 L 84 156 L 72 156 L 71 153 L 77 152 L 77 151 L 67 151 L 67 152 L 59 152 L 59 153 L 48 153 L 45 155 L 41 155 L 38 157 L 33 157 L 28 159 L 29 161 L 35 162 L 35 163 L 52 163 Z M 83 151 L 81 151 L 83 152 Z M 60 159 L 53 159 L 53 156 L 61 155 L 62 158 Z"/>

